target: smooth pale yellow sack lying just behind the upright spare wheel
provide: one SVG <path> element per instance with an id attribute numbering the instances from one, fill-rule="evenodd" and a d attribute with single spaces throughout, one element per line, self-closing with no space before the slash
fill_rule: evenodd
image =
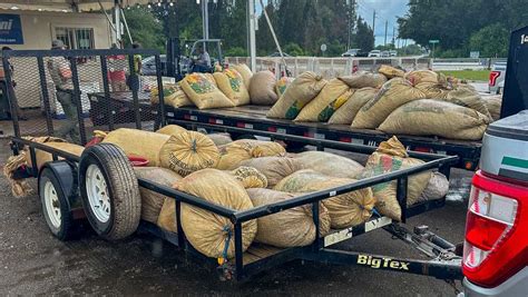
<path id="1" fill-rule="evenodd" d="M 120 147 L 126 155 L 136 155 L 148 160 L 148 166 L 160 167 L 159 151 L 172 136 L 119 128 L 107 133 L 102 142 Z"/>

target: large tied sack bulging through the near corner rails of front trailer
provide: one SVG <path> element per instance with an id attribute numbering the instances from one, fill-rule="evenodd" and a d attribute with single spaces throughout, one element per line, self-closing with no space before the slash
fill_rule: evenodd
<path id="1" fill-rule="evenodd" d="M 250 196 L 239 181 L 217 169 L 193 172 L 177 181 L 175 188 L 234 210 L 253 208 Z M 235 230 L 228 218 L 182 204 L 182 228 L 190 245 L 205 256 L 213 258 L 235 256 Z M 243 251 L 252 244 L 256 230 L 256 220 L 242 224 Z"/>

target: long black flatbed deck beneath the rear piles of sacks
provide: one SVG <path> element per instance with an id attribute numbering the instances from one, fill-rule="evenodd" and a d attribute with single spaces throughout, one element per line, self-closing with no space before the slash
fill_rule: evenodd
<path id="1" fill-rule="evenodd" d="M 166 107 L 165 115 L 169 123 L 197 126 L 236 127 L 250 130 L 271 131 L 314 139 L 336 140 L 356 145 L 378 147 L 381 141 L 392 137 L 378 130 L 353 129 L 349 125 L 329 125 L 324 122 L 294 122 L 286 119 L 266 118 L 267 106 L 241 106 L 234 108 L 199 110 L 195 107 Z M 459 156 L 456 167 L 473 170 L 480 158 L 481 141 L 454 140 L 439 137 L 398 135 L 409 150 Z"/>

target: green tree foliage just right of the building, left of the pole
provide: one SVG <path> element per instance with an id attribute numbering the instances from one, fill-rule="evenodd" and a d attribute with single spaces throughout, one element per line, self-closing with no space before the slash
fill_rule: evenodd
<path id="1" fill-rule="evenodd" d="M 139 42 L 141 47 L 148 49 L 158 49 L 165 51 L 165 36 L 163 24 L 158 21 L 149 9 L 143 7 L 134 7 L 125 11 L 128 28 L 135 42 Z M 129 47 L 128 38 L 125 44 Z"/>

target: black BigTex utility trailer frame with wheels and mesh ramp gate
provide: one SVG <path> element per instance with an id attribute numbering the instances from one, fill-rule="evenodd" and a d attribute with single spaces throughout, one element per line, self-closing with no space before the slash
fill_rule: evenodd
<path id="1" fill-rule="evenodd" d="M 89 146 L 79 157 L 23 138 L 25 133 L 30 131 L 28 126 L 35 122 L 42 122 L 42 127 L 40 127 L 40 129 L 31 130 L 37 131 L 40 136 L 52 136 L 56 132 L 56 127 L 61 126 L 60 120 L 53 120 L 51 117 L 51 98 L 46 83 L 46 78 L 49 73 L 47 73 L 43 66 L 45 59 L 49 57 L 66 57 L 71 65 L 74 86 L 71 91 L 74 93 L 72 100 L 76 101 L 77 106 L 78 129 L 81 136 L 80 145 L 86 145 L 88 142 L 87 140 L 89 138 L 90 129 L 97 128 L 102 130 L 113 130 L 123 127 L 123 125 L 129 123 L 138 129 L 155 129 L 158 125 L 166 125 L 168 120 L 175 122 L 182 121 L 187 126 L 190 125 L 192 128 L 198 128 L 197 123 L 199 123 L 199 126 L 206 127 L 208 127 L 207 125 L 211 125 L 213 128 L 225 129 L 238 135 L 260 135 L 271 139 L 284 140 L 292 143 L 313 145 L 319 150 L 332 148 L 359 154 L 372 154 L 375 150 L 375 147 L 373 143 L 370 143 L 369 146 L 369 143 L 356 143 L 354 141 L 339 141 L 340 139 L 332 140 L 330 137 L 321 139 L 314 136 L 306 137 L 304 135 L 297 135 L 295 130 L 289 130 L 292 129 L 290 126 L 296 126 L 286 121 L 281 123 L 286 129 L 284 131 L 278 130 L 280 127 L 277 127 L 276 130 L 270 130 L 268 127 L 272 126 L 257 130 L 255 129 L 255 126 L 247 126 L 251 125 L 250 122 L 242 126 L 235 123 L 233 127 L 228 127 L 222 126 L 219 120 L 223 119 L 219 118 L 214 118 L 214 122 L 209 122 L 209 118 L 206 119 L 202 118 L 201 116 L 201 121 L 205 122 L 198 122 L 193 117 L 197 117 L 196 115 L 198 113 L 206 115 L 206 112 L 194 109 L 182 109 L 182 112 L 187 110 L 188 113 L 187 116 L 182 113 L 184 120 L 178 120 L 177 118 L 174 118 L 174 115 L 179 111 L 165 110 L 165 106 L 163 105 L 164 97 L 160 71 L 157 71 L 157 87 L 159 89 L 158 98 L 160 105 L 151 109 L 151 113 L 156 116 L 154 120 L 154 128 L 150 126 L 150 121 L 147 119 L 148 122 L 146 122 L 141 116 L 141 105 L 145 105 L 145 102 L 141 100 L 143 96 L 138 95 L 137 91 L 133 90 L 129 92 L 129 100 L 121 100 L 126 103 L 127 108 L 130 108 L 133 115 L 129 115 L 130 112 L 116 112 L 116 109 L 114 108 L 114 103 L 116 102 L 114 99 L 117 98 L 117 95 L 111 92 L 108 86 L 108 68 L 106 65 L 107 57 L 115 55 L 126 55 L 128 56 L 129 61 L 131 61 L 131 57 L 134 55 L 154 55 L 156 57 L 156 65 L 159 66 L 159 52 L 156 51 L 67 50 L 4 51 L 2 53 L 4 69 L 9 69 L 8 59 L 11 59 L 11 61 L 21 59 L 28 63 L 31 61 L 35 62 L 35 66 L 37 66 L 38 69 L 40 79 L 40 96 L 43 100 L 42 121 L 37 121 L 36 119 L 30 118 L 28 121 L 19 122 L 17 113 L 18 99 L 17 96 L 12 96 L 17 95 L 17 91 L 11 87 L 10 92 L 7 93 L 11 110 L 14 111 L 14 136 L 12 137 L 11 149 L 13 155 L 19 155 L 22 150 L 26 150 L 26 154 L 29 154 L 29 159 L 31 160 L 30 164 L 32 165 L 37 165 L 37 150 L 43 150 L 51 154 L 52 160 L 45 164 L 41 168 L 38 168 L 38 166 L 20 167 L 13 177 L 38 178 L 38 191 L 41 199 L 43 216 L 51 234 L 58 239 L 68 239 L 75 231 L 75 226 L 78 222 L 78 219 L 84 218 L 88 219 L 96 234 L 108 240 L 127 237 L 133 235 L 138 229 L 146 230 L 174 244 L 183 251 L 195 255 L 196 258 L 204 259 L 205 263 L 212 264 L 218 269 L 222 277 L 236 280 L 246 279 L 261 271 L 270 269 L 273 266 L 295 259 L 304 259 L 324 264 L 360 265 L 371 267 L 373 269 L 428 275 L 449 281 L 462 278 L 460 256 L 458 253 L 456 253 L 456 246 L 446 241 L 441 237 L 436 236 L 424 226 L 419 226 L 414 228 L 414 230 L 410 231 L 392 219 L 374 215 L 364 224 L 345 229 L 332 230 L 324 237 L 321 237 L 319 231 L 319 204 L 323 199 L 329 199 L 336 195 L 375 186 L 391 180 L 395 180 L 398 185 L 397 198 L 400 207 L 402 208 L 402 222 L 405 222 L 407 219 L 412 216 L 443 207 L 446 202 L 444 198 L 424 201 L 411 207 L 407 207 L 408 179 L 410 175 L 419 174 L 426 170 L 439 170 L 449 177 L 451 166 L 459 164 L 458 156 L 410 151 L 411 157 L 422 159 L 426 162 L 412 168 L 400 169 L 393 172 L 353 181 L 341 187 L 305 194 L 286 201 L 274 202 L 266 206 L 236 211 L 221 205 L 208 202 L 201 197 L 195 197 L 182 191 L 177 191 L 169 187 L 158 185 L 151 180 L 136 178 L 128 157 L 121 149 L 114 145 L 99 143 Z M 78 67 L 77 58 L 86 57 L 89 58 L 89 61 L 91 61 L 92 65 L 89 67 Z M 99 66 L 98 70 L 94 67 L 94 65 Z M 94 93 L 92 98 L 96 98 L 97 96 L 104 96 L 105 99 L 107 99 L 107 109 L 98 111 L 100 115 L 106 115 L 108 117 L 108 122 L 105 121 L 104 125 L 96 125 L 94 121 L 91 121 L 91 119 L 82 118 L 79 78 L 88 77 L 87 73 L 79 73 L 79 71 L 84 71 L 82 69 L 96 69 L 96 71 L 90 75 L 95 77 L 100 83 L 102 83 L 102 95 Z M 11 85 L 12 78 L 9 70 L 6 71 L 6 79 L 8 86 Z M 211 115 L 215 115 L 215 111 L 211 112 Z M 218 115 L 222 112 L 226 111 L 217 111 Z M 120 119 L 119 117 L 126 117 L 126 119 Z M 185 117 L 188 117 L 188 119 L 185 120 Z M 227 118 L 225 118 L 225 120 L 227 120 Z M 271 122 L 272 121 L 268 121 L 266 125 L 271 125 Z M 280 121 L 276 122 L 278 123 Z M 309 131 L 315 132 L 315 128 Z M 377 138 L 377 140 L 381 141 L 382 138 Z M 168 232 L 153 224 L 140 220 L 141 201 L 139 197 L 139 187 L 147 188 L 175 199 L 175 224 L 177 232 Z M 223 259 L 221 264 L 218 264 L 217 259 L 207 258 L 193 248 L 190 242 L 187 241 L 187 237 L 180 225 L 182 204 L 193 205 L 218 216 L 226 217 L 231 220 L 232 229 L 229 230 L 229 234 L 232 235 L 235 245 L 235 257 L 233 259 Z M 317 236 L 310 246 L 276 248 L 262 244 L 253 244 L 245 253 L 243 251 L 242 224 L 244 221 L 258 219 L 261 217 L 270 216 L 302 205 L 312 205 L 313 209 L 313 224 L 316 228 Z M 422 251 L 424 255 L 429 256 L 430 260 L 400 259 L 392 256 L 353 253 L 335 248 L 335 245 L 339 242 L 373 231 L 375 229 L 387 230 L 389 232 L 388 238 L 395 237 L 402 239 L 403 241 L 415 247 L 418 250 Z"/>

